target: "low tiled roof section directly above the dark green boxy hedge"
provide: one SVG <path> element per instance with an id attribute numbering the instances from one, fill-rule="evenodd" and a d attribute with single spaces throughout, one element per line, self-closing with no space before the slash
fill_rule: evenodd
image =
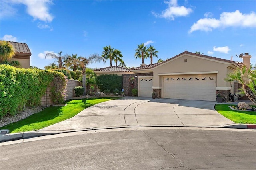
<path id="1" fill-rule="evenodd" d="M 109 75 L 109 74 L 117 74 L 118 76 L 122 76 L 123 74 L 133 74 L 129 69 L 123 68 L 120 66 L 110 66 L 110 67 L 105 67 L 105 68 L 98 68 L 94 69 L 94 73 L 97 76 L 100 75 Z"/>

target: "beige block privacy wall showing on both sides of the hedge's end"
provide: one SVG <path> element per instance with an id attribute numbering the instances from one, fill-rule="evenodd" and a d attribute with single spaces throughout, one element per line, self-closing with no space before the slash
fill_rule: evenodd
<path id="1" fill-rule="evenodd" d="M 65 100 L 68 100 L 68 99 L 70 99 L 70 98 L 72 98 L 72 97 L 75 96 L 75 90 L 74 90 L 74 88 L 75 88 L 76 86 L 82 86 L 82 85 L 81 85 L 80 82 L 77 81 L 77 80 L 68 80 L 67 86 L 66 86 L 66 88 L 65 88 L 65 90 L 66 90 L 66 99 L 65 99 Z M 51 94 L 52 94 L 52 93 L 50 92 L 50 87 L 47 87 L 47 90 L 46 90 L 45 93 L 46 93 L 46 94 L 45 94 L 44 96 L 42 96 L 42 98 L 41 98 L 41 106 L 49 106 L 49 105 L 52 105 L 53 102 L 52 102 L 52 100 L 51 100 Z"/>

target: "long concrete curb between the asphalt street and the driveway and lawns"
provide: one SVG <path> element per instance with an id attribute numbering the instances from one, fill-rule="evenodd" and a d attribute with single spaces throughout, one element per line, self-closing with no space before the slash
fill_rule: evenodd
<path id="1" fill-rule="evenodd" d="M 7 141 L 15 141 L 19 139 L 28 139 L 33 137 L 40 137 L 46 135 L 56 135 L 61 133 L 71 133 L 79 131 L 94 131 L 101 129 L 120 129 L 120 128 L 136 128 L 136 127 L 198 127 L 198 128 L 234 128 L 234 129 L 256 129 L 256 125 L 246 125 L 246 124 L 232 124 L 232 125 L 135 125 L 135 126 L 117 126 L 117 127 L 96 127 L 96 128 L 86 128 L 86 129 L 74 129 L 74 130 L 63 130 L 63 131 L 29 131 L 20 133 L 8 133 L 5 135 L 0 135 L 0 143 Z"/>

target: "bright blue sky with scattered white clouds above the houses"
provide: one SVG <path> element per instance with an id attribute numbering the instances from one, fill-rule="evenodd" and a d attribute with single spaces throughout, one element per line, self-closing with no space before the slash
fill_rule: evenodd
<path id="1" fill-rule="evenodd" d="M 106 45 L 136 67 L 141 43 L 159 51 L 153 63 L 187 50 L 234 61 L 248 52 L 256 64 L 256 1 L 1 0 L 0 39 L 27 43 L 30 65 L 38 68 L 54 62 L 45 53 L 88 57 L 101 55 Z M 106 66 L 109 61 L 88 65 Z"/>

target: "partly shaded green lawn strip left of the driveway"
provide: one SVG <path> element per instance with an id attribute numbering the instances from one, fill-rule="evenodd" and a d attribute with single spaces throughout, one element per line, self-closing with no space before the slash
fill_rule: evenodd
<path id="1" fill-rule="evenodd" d="M 64 121 L 77 115 L 80 111 L 95 104 L 105 102 L 112 99 L 119 99 L 118 97 L 110 98 L 90 98 L 80 100 L 68 100 L 67 106 L 50 106 L 42 111 L 35 113 L 26 119 L 10 123 L 1 127 L 0 129 L 9 129 L 9 133 L 18 133 L 26 131 L 35 131 L 44 127 L 53 125 L 60 121 Z"/>

